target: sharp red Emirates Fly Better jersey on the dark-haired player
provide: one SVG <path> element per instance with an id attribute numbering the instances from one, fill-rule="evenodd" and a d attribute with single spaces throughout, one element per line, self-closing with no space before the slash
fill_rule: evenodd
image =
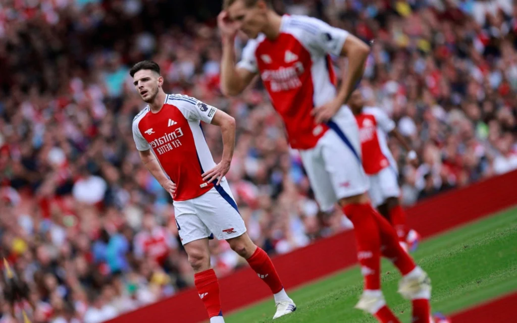
<path id="1" fill-rule="evenodd" d="M 136 148 L 153 149 L 163 171 L 176 183 L 174 201 L 200 196 L 214 187 L 201 176 L 215 166 L 201 121 L 210 123 L 216 111 L 188 96 L 167 95 L 158 113 L 147 106 L 133 120 Z"/>

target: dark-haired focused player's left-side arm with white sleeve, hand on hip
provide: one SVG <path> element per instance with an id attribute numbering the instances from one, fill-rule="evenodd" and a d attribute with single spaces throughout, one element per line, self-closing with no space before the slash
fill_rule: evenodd
<path id="1" fill-rule="evenodd" d="M 136 122 L 133 122 L 133 139 L 136 143 L 136 149 L 138 149 L 140 154 L 140 159 L 142 160 L 142 163 L 147 168 L 149 173 L 151 173 L 151 175 L 156 178 L 160 185 L 167 192 L 169 192 L 171 196 L 174 195 L 174 192 L 176 191 L 176 184 L 171 181 L 163 172 L 155 154 L 151 151 L 151 146 L 142 136 L 142 133 L 138 129 L 138 124 L 136 124 Z"/>

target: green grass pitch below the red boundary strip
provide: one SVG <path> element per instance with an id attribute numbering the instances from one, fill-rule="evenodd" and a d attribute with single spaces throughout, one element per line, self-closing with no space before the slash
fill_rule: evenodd
<path id="1" fill-rule="evenodd" d="M 517 208 L 427 240 L 414 257 L 433 281 L 433 311 L 451 313 L 517 290 Z M 388 262 L 382 279 L 389 306 L 408 322 L 410 303 L 396 293 L 400 275 Z M 298 309 L 275 322 L 375 322 L 354 309 L 361 291 L 358 267 L 288 290 Z M 269 322 L 274 313 L 271 298 L 225 321 Z"/>

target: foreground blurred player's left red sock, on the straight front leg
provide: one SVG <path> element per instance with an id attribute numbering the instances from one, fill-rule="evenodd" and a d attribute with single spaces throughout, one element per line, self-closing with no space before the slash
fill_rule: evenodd
<path id="1" fill-rule="evenodd" d="M 381 289 L 381 237 L 369 204 L 343 207 L 346 217 L 354 224 L 357 258 L 364 278 L 364 289 Z"/>

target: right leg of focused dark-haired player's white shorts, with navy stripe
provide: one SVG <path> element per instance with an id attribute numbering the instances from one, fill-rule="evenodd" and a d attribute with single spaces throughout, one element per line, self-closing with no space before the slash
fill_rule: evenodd
<path id="1" fill-rule="evenodd" d="M 194 200 L 199 218 L 218 239 L 232 239 L 246 232 L 226 181 Z"/>

